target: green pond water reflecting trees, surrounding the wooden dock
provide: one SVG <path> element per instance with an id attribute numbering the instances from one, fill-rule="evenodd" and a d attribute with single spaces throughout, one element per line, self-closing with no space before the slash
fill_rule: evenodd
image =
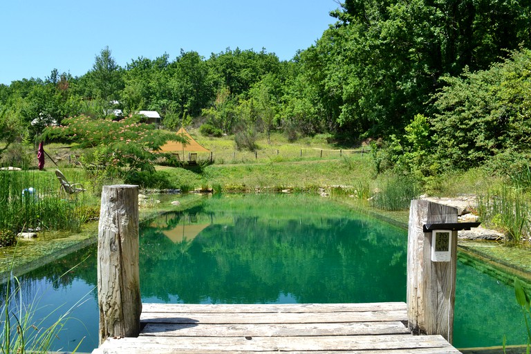
<path id="1" fill-rule="evenodd" d="M 79 351 L 97 346 L 95 255 L 92 246 L 21 277 L 35 318 L 73 308 L 56 350 L 83 337 Z M 313 196 L 224 195 L 140 225 L 143 302 L 405 301 L 406 262 L 405 230 Z M 512 286 L 478 269 L 458 263 L 454 346 L 524 343 Z"/>

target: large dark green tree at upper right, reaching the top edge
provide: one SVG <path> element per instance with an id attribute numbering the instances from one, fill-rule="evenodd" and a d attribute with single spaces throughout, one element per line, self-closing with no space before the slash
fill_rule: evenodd
<path id="1" fill-rule="evenodd" d="M 514 1 L 346 0 L 337 24 L 301 53 L 303 75 L 336 132 L 386 136 L 431 113 L 443 75 L 529 46 L 530 11 Z"/>

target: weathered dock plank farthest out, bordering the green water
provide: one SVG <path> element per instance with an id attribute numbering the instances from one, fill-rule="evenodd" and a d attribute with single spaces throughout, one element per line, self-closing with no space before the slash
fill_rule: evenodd
<path id="1" fill-rule="evenodd" d="M 142 304 L 148 313 L 335 313 L 406 310 L 404 302 L 366 304 Z M 185 310 L 183 310 L 185 309 Z"/>

